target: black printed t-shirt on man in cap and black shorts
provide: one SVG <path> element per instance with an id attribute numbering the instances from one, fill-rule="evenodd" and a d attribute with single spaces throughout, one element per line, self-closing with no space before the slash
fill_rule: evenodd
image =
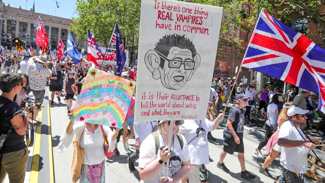
<path id="1" fill-rule="evenodd" d="M 231 125 L 234 131 L 236 132 L 237 136 L 241 140 L 243 137 L 243 127 L 245 119 L 243 109 L 240 109 L 237 105 L 233 106 L 229 111 L 228 119 L 232 120 Z M 232 136 L 228 127 L 224 129 L 223 134 L 225 134 L 226 136 Z"/>

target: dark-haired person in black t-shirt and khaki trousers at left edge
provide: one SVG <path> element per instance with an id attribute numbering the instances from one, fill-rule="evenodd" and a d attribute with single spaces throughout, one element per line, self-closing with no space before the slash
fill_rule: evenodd
<path id="1" fill-rule="evenodd" d="M 29 110 L 28 107 L 22 110 L 13 101 L 22 85 L 19 74 L 6 73 L 0 76 L 0 182 L 6 173 L 10 182 L 23 182 L 25 177 L 28 149 L 24 141 L 27 128 L 24 114 L 29 113 Z"/>

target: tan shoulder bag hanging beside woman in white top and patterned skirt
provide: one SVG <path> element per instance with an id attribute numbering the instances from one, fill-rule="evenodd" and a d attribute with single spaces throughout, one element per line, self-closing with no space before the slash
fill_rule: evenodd
<path id="1" fill-rule="evenodd" d="M 85 126 L 84 126 L 85 127 Z M 81 171 L 81 166 L 83 162 L 83 154 L 84 154 L 84 149 L 80 147 L 80 141 L 83 135 L 83 130 L 80 134 L 79 140 L 77 140 L 78 134 L 75 134 L 75 140 L 72 142 L 73 143 L 73 155 L 72 155 L 72 163 L 71 163 L 71 176 L 72 176 L 72 182 L 76 182 L 79 177 L 80 177 L 80 171 Z"/>

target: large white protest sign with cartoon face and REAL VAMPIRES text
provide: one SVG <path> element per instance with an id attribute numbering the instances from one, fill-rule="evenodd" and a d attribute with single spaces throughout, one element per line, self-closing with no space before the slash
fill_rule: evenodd
<path id="1" fill-rule="evenodd" d="M 142 0 L 135 121 L 204 119 L 222 8 Z"/>

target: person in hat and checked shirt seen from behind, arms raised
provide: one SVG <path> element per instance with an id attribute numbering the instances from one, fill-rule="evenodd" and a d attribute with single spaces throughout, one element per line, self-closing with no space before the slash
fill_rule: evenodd
<path id="1" fill-rule="evenodd" d="M 48 68 L 49 61 L 46 55 L 33 56 L 31 59 L 34 62 L 30 61 L 27 65 L 29 87 L 35 96 L 35 103 L 43 103 L 46 79 L 52 75 L 52 71 Z M 38 110 L 35 111 L 35 115 L 37 113 Z"/>

